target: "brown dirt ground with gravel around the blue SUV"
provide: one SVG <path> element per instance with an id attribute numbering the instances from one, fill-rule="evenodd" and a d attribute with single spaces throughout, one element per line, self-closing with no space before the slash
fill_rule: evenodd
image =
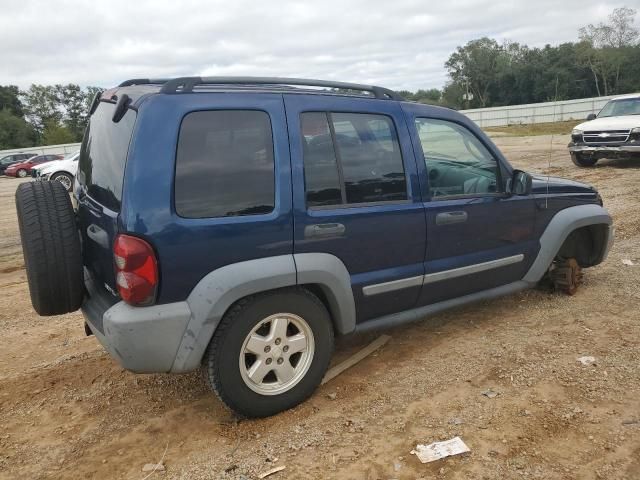
<path id="1" fill-rule="evenodd" d="M 234 418 L 198 374 L 124 371 L 79 313 L 36 316 L 19 181 L 0 178 L 0 478 L 143 479 L 162 460 L 149 478 L 256 479 L 283 465 L 269 479 L 640 479 L 640 161 L 578 169 L 567 141 L 550 154 L 549 137 L 496 139 L 517 167 L 602 193 L 616 243 L 575 296 L 527 291 L 391 330 L 263 420 Z M 336 358 L 373 338 L 340 341 Z M 425 465 L 409 453 L 456 435 L 471 453 Z"/>

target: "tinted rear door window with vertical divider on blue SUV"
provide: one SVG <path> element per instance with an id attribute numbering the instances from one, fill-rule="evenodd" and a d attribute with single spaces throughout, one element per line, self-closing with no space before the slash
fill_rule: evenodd
<path id="1" fill-rule="evenodd" d="M 407 199 L 395 125 L 385 115 L 301 115 L 307 206 Z"/>

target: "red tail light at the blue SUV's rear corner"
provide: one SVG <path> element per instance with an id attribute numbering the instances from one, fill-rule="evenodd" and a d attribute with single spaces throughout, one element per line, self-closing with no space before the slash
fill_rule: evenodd
<path id="1" fill-rule="evenodd" d="M 158 262 L 151 245 L 141 238 L 118 235 L 113 259 L 122 300 L 136 306 L 152 304 L 158 287 Z"/>

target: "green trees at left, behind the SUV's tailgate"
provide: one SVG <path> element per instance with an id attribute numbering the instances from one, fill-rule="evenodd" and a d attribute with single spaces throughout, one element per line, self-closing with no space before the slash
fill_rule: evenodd
<path id="1" fill-rule="evenodd" d="M 0 150 L 58 145 L 82 140 L 98 87 L 0 86 Z"/>

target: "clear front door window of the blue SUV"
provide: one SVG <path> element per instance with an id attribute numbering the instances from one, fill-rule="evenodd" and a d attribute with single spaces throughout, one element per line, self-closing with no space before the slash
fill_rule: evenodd
<path id="1" fill-rule="evenodd" d="M 431 196 L 499 192 L 498 162 L 478 138 L 457 123 L 416 118 Z"/>

